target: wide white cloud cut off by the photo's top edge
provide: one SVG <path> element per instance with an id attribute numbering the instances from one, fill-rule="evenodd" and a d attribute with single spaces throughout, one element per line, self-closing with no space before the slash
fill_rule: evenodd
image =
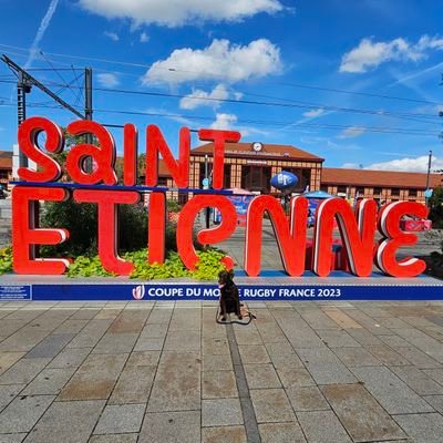
<path id="1" fill-rule="evenodd" d="M 130 19 L 135 27 L 156 23 L 171 28 L 205 21 L 241 21 L 259 12 L 272 14 L 284 10 L 278 0 L 80 0 L 80 4 L 107 19 Z"/>

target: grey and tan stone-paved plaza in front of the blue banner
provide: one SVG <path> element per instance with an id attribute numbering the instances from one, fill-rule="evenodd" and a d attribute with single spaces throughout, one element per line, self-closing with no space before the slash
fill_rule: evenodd
<path id="1" fill-rule="evenodd" d="M 1 443 L 443 441 L 443 302 L 0 303 Z"/>

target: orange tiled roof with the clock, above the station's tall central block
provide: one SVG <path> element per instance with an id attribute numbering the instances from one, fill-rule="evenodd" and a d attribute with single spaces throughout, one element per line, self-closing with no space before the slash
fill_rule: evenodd
<path id="1" fill-rule="evenodd" d="M 190 154 L 213 154 L 214 143 L 207 143 L 205 145 L 195 147 L 190 151 Z M 275 145 L 264 143 L 262 152 L 255 153 L 251 148 L 251 143 L 226 143 L 225 144 L 225 156 L 234 155 L 250 155 L 255 158 L 269 158 L 269 157 L 288 157 L 291 159 L 306 159 L 310 162 L 323 162 L 324 159 L 299 150 L 298 147 L 290 145 Z"/>

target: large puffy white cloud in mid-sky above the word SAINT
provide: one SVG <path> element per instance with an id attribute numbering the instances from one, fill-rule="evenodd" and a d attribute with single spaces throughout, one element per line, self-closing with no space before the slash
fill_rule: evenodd
<path id="1" fill-rule="evenodd" d="M 280 50 L 269 40 L 254 40 L 244 47 L 214 40 L 203 50 L 176 49 L 167 59 L 155 62 L 142 81 L 144 85 L 196 80 L 231 83 L 277 73 L 281 65 Z"/>

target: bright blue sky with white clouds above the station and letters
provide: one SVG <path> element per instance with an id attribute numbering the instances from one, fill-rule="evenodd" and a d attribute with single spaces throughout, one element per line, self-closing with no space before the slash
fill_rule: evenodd
<path id="1" fill-rule="evenodd" d="M 61 96 L 75 106 L 75 69 L 91 66 L 94 120 L 136 124 L 141 151 L 154 123 L 172 146 L 183 125 L 234 128 L 330 167 L 425 171 L 432 150 L 433 169 L 443 168 L 440 1 L 217 3 L 0 0 L 0 53 L 54 91 L 72 81 Z M 0 150 L 17 140 L 13 79 L 2 63 Z M 27 99 L 29 116 L 75 119 L 35 87 Z M 121 151 L 122 130 L 111 131 Z"/>

